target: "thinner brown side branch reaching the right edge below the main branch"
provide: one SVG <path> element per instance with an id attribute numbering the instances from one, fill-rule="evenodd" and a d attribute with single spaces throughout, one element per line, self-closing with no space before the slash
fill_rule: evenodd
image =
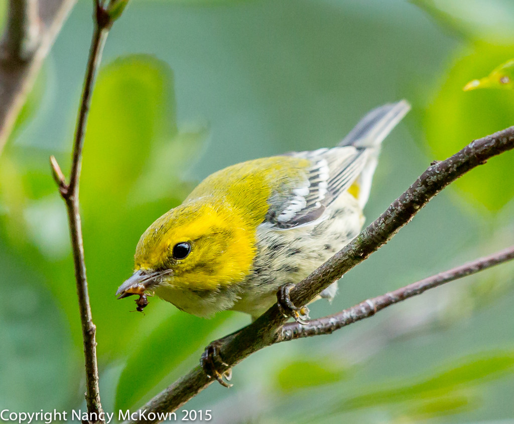
<path id="1" fill-rule="evenodd" d="M 398 290 L 395 290 L 394 292 L 364 300 L 358 305 L 352 306 L 337 314 L 310 320 L 306 325 L 301 325 L 296 322 L 284 324 L 281 327 L 280 333 L 275 342 L 280 343 L 282 341 L 300 339 L 303 337 L 331 334 L 346 325 L 371 317 L 388 306 L 394 305 L 402 300 L 409 299 L 410 297 L 420 295 L 430 288 L 458 280 L 468 275 L 479 273 L 484 269 L 512 259 L 514 259 L 514 246 L 508 247 L 493 255 L 476 259 L 464 265 L 449 269 L 448 271 L 406 285 L 405 287 L 398 288 Z"/>

